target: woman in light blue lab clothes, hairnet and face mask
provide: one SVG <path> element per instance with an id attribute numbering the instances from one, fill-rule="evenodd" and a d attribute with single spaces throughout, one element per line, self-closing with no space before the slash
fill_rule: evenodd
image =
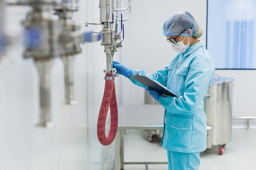
<path id="1" fill-rule="evenodd" d="M 154 74 L 130 69 L 113 62 L 117 73 L 144 75 L 166 86 L 178 97 L 165 96 L 146 88 L 165 108 L 162 147 L 167 150 L 169 170 L 199 170 L 200 152 L 207 146 L 207 123 L 203 100 L 215 69 L 205 41 L 199 40 L 202 29 L 188 11 L 171 15 L 163 26 L 163 34 L 177 55 L 164 69 Z M 144 87 L 135 79 L 129 79 Z"/>

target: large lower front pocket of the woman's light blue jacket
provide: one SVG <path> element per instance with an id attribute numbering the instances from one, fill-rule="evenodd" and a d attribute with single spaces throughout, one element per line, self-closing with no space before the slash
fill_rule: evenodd
<path id="1" fill-rule="evenodd" d="M 192 143 L 192 118 L 173 116 L 170 122 L 168 143 L 179 148 L 189 148 Z"/>

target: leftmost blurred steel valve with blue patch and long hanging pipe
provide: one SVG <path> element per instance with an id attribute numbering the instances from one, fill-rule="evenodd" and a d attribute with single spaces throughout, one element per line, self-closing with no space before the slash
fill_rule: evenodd
<path id="1" fill-rule="evenodd" d="M 40 120 L 37 126 L 51 128 L 51 86 L 50 70 L 53 59 L 64 54 L 58 45 L 63 31 L 62 23 L 54 18 L 52 2 L 34 0 L 29 2 L 32 10 L 22 21 L 25 28 L 24 58 L 32 57 L 36 64 L 40 80 Z"/>

